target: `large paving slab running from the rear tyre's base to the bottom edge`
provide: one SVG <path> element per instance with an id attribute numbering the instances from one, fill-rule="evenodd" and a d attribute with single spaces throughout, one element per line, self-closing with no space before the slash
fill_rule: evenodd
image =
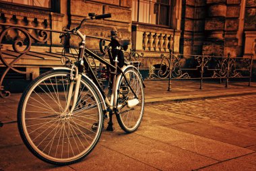
<path id="1" fill-rule="evenodd" d="M 137 135 L 141 131 L 142 128 L 139 128 L 136 133 L 125 134 L 118 129 L 114 133 L 103 133 L 100 144 L 159 170 L 193 170 L 217 162 L 179 147 Z"/>

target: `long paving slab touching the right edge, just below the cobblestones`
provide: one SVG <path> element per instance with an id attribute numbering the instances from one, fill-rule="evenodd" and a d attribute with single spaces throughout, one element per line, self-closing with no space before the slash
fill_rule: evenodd
<path id="1" fill-rule="evenodd" d="M 214 127 L 212 125 L 206 125 L 202 123 L 183 123 L 178 125 L 168 126 L 172 129 L 199 135 L 201 137 L 207 137 L 216 141 L 233 144 L 239 147 L 248 147 L 256 145 L 256 137 L 239 133 L 230 129 L 224 129 L 221 127 Z"/>

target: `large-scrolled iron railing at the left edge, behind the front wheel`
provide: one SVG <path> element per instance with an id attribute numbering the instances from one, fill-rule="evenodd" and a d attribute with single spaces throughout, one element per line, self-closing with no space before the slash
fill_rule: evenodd
<path id="1" fill-rule="evenodd" d="M 17 26 L 15 24 L 3 24 L 0 23 L 0 26 L 2 27 L 2 32 L 0 34 L 0 60 L 1 60 L 1 69 L 3 71 L 0 72 L 1 79 L 0 79 L 0 96 L 2 98 L 6 98 L 10 96 L 10 92 L 5 90 L 3 87 L 3 79 L 7 75 L 9 70 L 13 70 L 17 73 L 22 74 L 30 74 L 31 71 L 20 71 L 17 69 L 17 67 L 14 67 L 18 61 L 26 57 L 28 53 L 30 53 L 30 49 L 32 45 L 36 46 L 46 46 L 49 39 L 51 39 L 51 35 L 53 32 L 55 33 L 62 33 L 65 34 L 65 32 L 59 31 L 59 30 L 49 30 L 49 29 L 43 29 L 43 28 L 34 28 L 29 26 Z M 12 37 L 10 36 L 12 32 Z M 97 38 L 100 39 L 100 46 L 104 46 L 102 42 L 109 41 L 107 38 L 100 38 L 97 36 L 87 36 L 89 38 Z M 4 46 L 11 45 L 11 50 L 9 49 L 8 52 L 3 50 Z M 51 47 L 51 44 L 48 44 L 48 46 Z M 6 47 L 5 47 L 6 48 Z M 100 50 L 103 48 L 101 47 Z M 11 53 L 11 60 L 6 59 L 6 54 Z M 13 54 L 15 53 L 15 54 Z M 57 56 L 53 56 L 57 57 Z M 72 57 L 72 56 L 71 56 Z M 42 58 L 42 57 L 39 57 Z M 58 58 L 58 57 L 57 57 Z M 60 58 L 60 57 L 59 57 Z M 51 65 L 51 64 L 49 64 Z M 5 67 L 5 68 L 4 68 Z"/>

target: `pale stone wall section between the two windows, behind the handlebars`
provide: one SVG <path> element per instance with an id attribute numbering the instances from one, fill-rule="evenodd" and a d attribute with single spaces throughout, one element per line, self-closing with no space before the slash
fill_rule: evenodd
<path id="1" fill-rule="evenodd" d="M 120 38 L 131 39 L 131 1 L 129 0 L 76 0 L 70 1 L 70 28 L 78 26 L 81 20 L 88 13 L 112 13 L 112 18 L 103 20 L 90 20 L 86 22 L 81 32 L 91 36 L 99 36 L 103 38 L 110 37 L 110 30 L 117 28 Z M 77 46 L 78 38 L 71 38 L 71 46 Z M 87 38 L 88 48 L 98 49 L 99 40 L 95 38 Z"/>

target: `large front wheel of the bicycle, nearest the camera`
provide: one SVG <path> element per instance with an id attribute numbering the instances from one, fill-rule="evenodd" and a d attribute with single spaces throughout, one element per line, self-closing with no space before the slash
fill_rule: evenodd
<path id="1" fill-rule="evenodd" d="M 18 107 L 22 140 L 36 157 L 51 164 L 82 160 L 102 131 L 102 104 L 87 77 L 82 77 L 75 109 L 69 111 L 69 74 L 56 70 L 40 75 L 22 94 Z"/>

